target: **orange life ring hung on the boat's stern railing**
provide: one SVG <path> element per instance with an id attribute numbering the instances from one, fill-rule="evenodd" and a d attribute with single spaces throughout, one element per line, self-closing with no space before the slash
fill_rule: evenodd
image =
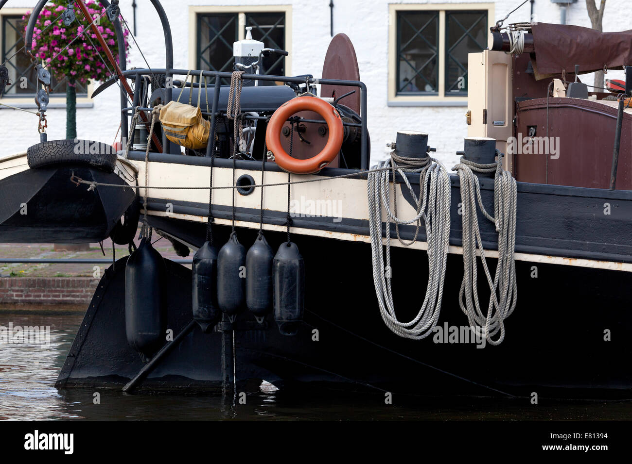
<path id="1" fill-rule="evenodd" d="M 322 151 L 307 160 L 292 158 L 281 146 L 281 129 L 288 117 L 299 111 L 317 112 L 327 122 L 329 139 Z M 318 97 L 296 97 L 281 105 L 270 117 L 265 131 L 265 145 L 274 154 L 274 160 L 281 169 L 292 174 L 313 174 L 331 163 L 343 146 L 343 121 L 332 105 Z"/>

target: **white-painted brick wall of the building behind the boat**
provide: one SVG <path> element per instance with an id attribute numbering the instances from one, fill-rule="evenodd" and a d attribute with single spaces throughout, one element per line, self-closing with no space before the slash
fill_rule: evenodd
<path id="1" fill-rule="evenodd" d="M 9 0 L 7 7 L 26 8 L 34 0 Z M 163 0 L 170 17 L 174 39 L 176 68 L 188 68 L 189 17 L 188 5 L 292 5 L 292 61 L 291 74 L 312 73 L 319 76 L 331 37 L 329 35 L 329 1 L 296 0 Z M 390 2 L 408 3 L 408 2 Z M 419 0 L 416 3 L 479 3 L 457 0 L 440 2 Z M 503 18 L 521 0 L 495 2 L 496 20 Z M 599 2 L 597 2 L 599 3 Z M 164 39 L 161 27 L 149 1 L 137 2 L 137 40 L 152 67 L 164 66 Z M 334 33 L 344 32 L 355 45 L 360 64 L 360 78 L 368 87 L 368 129 L 372 140 L 372 160 L 386 155 L 385 143 L 393 140 L 398 129 L 415 129 L 430 134 L 429 143 L 437 147 L 435 154 L 446 165 L 454 165 L 454 154 L 463 149 L 467 129 L 465 107 L 387 107 L 387 57 L 388 57 L 388 1 L 384 0 L 334 0 Z M 131 26 L 131 1 L 121 1 L 123 15 Z M 629 8 L 629 0 L 609 0 L 604 15 L 604 30 L 629 29 L 629 21 L 621 11 Z M 528 21 L 530 5 L 527 3 L 507 22 Z M 550 0 L 535 0 L 536 20 L 560 22 L 560 8 Z M 568 8 L 567 23 L 590 27 L 584 0 L 578 0 Z M 144 67 L 142 57 L 132 44 L 131 63 Z M 609 73 L 609 78 L 621 78 L 623 73 Z M 592 83 L 592 78 L 583 81 Z M 118 87 L 112 86 L 94 100 L 94 107 L 77 110 L 77 133 L 80 138 L 112 143 L 119 124 Z M 49 140 L 65 138 L 66 112 L 50 109 Z M 10 109 L 0 109 L 0 156 L 24 150 L 39 142 L 37 117 Z"/>

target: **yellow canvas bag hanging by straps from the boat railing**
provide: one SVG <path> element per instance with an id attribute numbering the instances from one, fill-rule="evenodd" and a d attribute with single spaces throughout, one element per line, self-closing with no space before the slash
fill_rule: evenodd
<path id="1" fill-rule="evenodd" d="M 200 150 L 205 148 L 209 143 L 210 121 L 202 117 L 202 109 L 200 109 L 200 97 L 202 96 L 202 76 L 200 76 L 200 86 L 198 92 L 197 107 L 191 105 L 191 96 L 193 95 L 193 76 L 191 76 L 191 91 L 189 92 L 189 104 L 180 103 L 180 97 L 185 90 L 186 81 L 189 78 L 189 71 L 186 74 L 185 82 L 182 85 L 178 100 L 171 101 L 164 105 L 160 111 L 160 122 L 162 130 L 167 139 L 173 143 Z M 208 95 L 207 95 L 208 106 Z"/>

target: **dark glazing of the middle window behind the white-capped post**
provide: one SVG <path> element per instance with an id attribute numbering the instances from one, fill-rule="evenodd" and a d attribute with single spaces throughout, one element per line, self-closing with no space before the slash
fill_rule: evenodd
<path id="1" fill-rule="evenodd" d="M 243 39 L 246 26 L 252 27 L 252 38 L 264 42 L 265 47 L 285 50 L 286 12 L 267 10 L 197 13 L 196 68 L 233 71 L 233 42 Z M 283 76 L 286 57 L 264 57 L 263 69 L 264 74 Z M 222 83 L 228 85 L 230 80 L 222 80 Z M 274 82 L 261 81 L 259 85 L 274 85 Z"/>

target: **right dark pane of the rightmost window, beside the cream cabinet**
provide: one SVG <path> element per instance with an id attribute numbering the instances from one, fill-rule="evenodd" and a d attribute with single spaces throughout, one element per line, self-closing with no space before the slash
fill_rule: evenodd
<path id="1" fill-rule="evenodd" d="M 487 11 L 446 11 L 446 97 L 468 94 L 468 54 L 487 45 Z"/>

